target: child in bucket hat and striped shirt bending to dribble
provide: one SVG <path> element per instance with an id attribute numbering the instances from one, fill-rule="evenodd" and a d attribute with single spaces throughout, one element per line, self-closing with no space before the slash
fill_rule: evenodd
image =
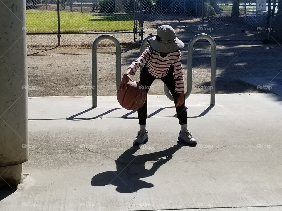
<path id="1" fill-rule="evenodd" d="M 127 82 L 133 80 L 130 75 L 135 75 L 138 67 L 141 67 L 139 83 L 149 88 L 155 79 L 161 79 L 171 92 L 176 107 L 177 118 L 181 126 L 178 140 L 185 144 L 196 144 L 192 133 L 187 130 L 187 112 L 185 106 L 184 81 L 181 64 L 180 49 L 184 43 L 176 38 L 174 29 L 169 25 L 162 25 L 157 29 L 157 35 L 148 40 L 148 47 L 142 55 L 128 67 L 122 77 L 120 89 L 127 88 Z M 133 144 L 145 144 L 148 141 L 146 129 L 147 99 L 138 110 L 140 130 Z"/>

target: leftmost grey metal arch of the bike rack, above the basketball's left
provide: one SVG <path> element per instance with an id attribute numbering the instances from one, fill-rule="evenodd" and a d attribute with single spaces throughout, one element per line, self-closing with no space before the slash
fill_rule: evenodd
<path id="1" fill-rule="evenodd" d="M 97 46 L 101 40 L 111 40 L 116 47 L 117 89 L 121 81 L 121 48 L 120 42 L 112 35 L 100 35 L 92 44 L 92 107 L 97 107 Z"/>

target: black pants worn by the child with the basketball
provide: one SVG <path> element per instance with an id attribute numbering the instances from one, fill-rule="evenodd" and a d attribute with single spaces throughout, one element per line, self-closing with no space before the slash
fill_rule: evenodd
<path id="1" fill-rule="evenodd" d="M 162 82 L 164 82 L 165 85 L 167 85 L 167 88 L 169 89 L 170 93 L 173 96 L 174 105 L 175 105 L 177 103 L 180 93 L 175 92 L 175 83 L 176 82 L 173 76 L 173 69 L 174 69 L 173 66 L 170 66 L 167 75 L 160 79 L 162 80 Z M 148 93 L 149 88 L 152 85 L 152 83 L 155 81 L 155 79 L 156 78 L 148 72 L 146 66 L 144 66 L 141 69 L 139 83 L 145 87 L 146 93 Z M 141 108 L 139 108 L 137 111 L 138 111 L 139 125 L 145 125 L 146 120 L 148 118 L 147 98 L 146 98 L 144 105 Z M 177 113 L 177 118 L 179 120 L 179 124 L 180 125 L 187 124 L 187 112 L 186 112 L 185 101 L 181 106 L 176 107 L 176 113 Z"/>

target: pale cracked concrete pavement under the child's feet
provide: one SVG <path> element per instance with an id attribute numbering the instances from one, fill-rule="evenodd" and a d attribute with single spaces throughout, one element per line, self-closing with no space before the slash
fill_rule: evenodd
<path id="1" fill-rule="evenodd" d="M 116 96 L 98 97 L 95 109 L 90 97 L 29 98 L 30 158 L 18 189 L 1 191 L 0 210 L 282 210 L 277 96 L 217 94 L 209 107 L 209 95 L 191 95 L 196 147 L 177 144 L 172 101 L 148 103 L 149 142 L 132 147 L 137 112 Z"/>

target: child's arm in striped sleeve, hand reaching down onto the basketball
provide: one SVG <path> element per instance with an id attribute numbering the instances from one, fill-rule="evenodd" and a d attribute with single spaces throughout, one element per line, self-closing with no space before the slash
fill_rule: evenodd
<path id="1" fill-rule="evenodd" d="M 125 73 L 123 74 L 122 80 L 120 82 L 120 86 L 119 89 L 123 89 L 124 87 L 127 89 L 127 87 L 129 86 L 127 83 L 128 81 L 132 81 L 132 78 L 129 75 L 135 75 L 137 69 L 142 66 L 143 64 L 145 64 L 145 62 L 147 61 L 147 59 L 149 58 L 149 56 L 151 55 L 151 49 L 150 47 L 147 47 L 147 49 L 142 53 L 142 55 L 136 59 L 134 62 L 132 62 L 132 64 L 127 68 L 127 70 L 125 71 Z"/>

